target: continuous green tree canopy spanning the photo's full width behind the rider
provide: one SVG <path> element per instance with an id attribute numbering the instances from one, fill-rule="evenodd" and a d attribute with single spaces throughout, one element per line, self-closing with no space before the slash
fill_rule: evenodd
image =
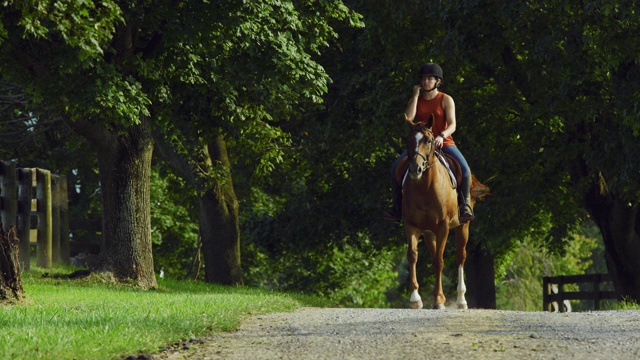
<path id="1" fill-rule="evenodd" d="M 492 188 L 470 248 L 500 271 L 518 239 L 561 252 L 590 217 L 640 299 L 639 22 L 633 1 L 7 1 L 0 70 L 97 143 L 153 129 L 200 193 L 231 175 L 249 265 L 285 259 L 272 270 L 299 272 L 273 286 L 321 291 L 331 270 L 305 256 L 398 262 L 388 170 L 417 69 L 437 62 Z M 203 155 L 221 136 L 228 165 Z"/>

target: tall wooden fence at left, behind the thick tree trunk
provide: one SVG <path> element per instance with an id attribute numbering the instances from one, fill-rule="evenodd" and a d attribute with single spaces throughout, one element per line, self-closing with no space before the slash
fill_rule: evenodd
<path id="1" fill-rule="evenodd" d="M 2 224 L 5 229 L 16 227 L 23 270 L 30 268 L 32 243 L 36 245 L 39 267 L 50 269 L 54 262 L 69 263 L 68 204 L 65 176 L 45 169 L 17 168 L 14 162 L 0 161 Z M 32 216 L 37 218 L 35 241 L 31 239 Z"/>

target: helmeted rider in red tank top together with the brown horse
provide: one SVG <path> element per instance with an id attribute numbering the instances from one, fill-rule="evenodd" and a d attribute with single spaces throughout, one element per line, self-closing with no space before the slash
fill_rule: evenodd
<path id="1" fill-rule="evenodd" d="M 457 307 L 467 308 L 465 299 L 464 263 L 466 245 L 469 239 L 469 223 L 474 219 L 473 205 L 489 193 L 489 188 L 480 184 L 472 175 L 469 165 L 455 146 L 451 134 L 456 130 L 455 104 L 451 96 L 439 92 L 442 81 L 442 69 L 437 64 L 426 64 L 420 70 L 420 85 L 414 87 L 414 93 L 407 110 L 405 120 L 411 126 L 407 139 L 407 149 L 394 163 L 392 184 L 396 219 L 404 219 L 409 264 L 409 305 L 422 308 L 422 299 L 418 293 L 419 284 L 416 275 L 418 262 L 418 241 L 420 237 L 431 255 L 431 265 L 435 274 L 433 289 L 433 308 L 443 309 L 446 298 L 442 290 L 442 271 L 444 269 L 444 249 L 449 230 L 455 229 L 456 262 L 458 264 Z M 413 120 L 417 119 L 417 122 Z M 434 136 L 434 134 L 438 134 Z M 458 186 L 462 201 L 458 202 L 455 189 L 457 184 L 450 176 L 444 157 L 437 156 L 438 150 L 450 155 L 460 165 L 461 181 Z M 403 181 L 396 179 L 395 167 L 401 161 L 408 163 Z M 403 167 L 404 169 L 404 167 Z M 473 197 L 471 193 L 473 191 Z M 398 194 L 399 193 L 399 194 Z"/>

